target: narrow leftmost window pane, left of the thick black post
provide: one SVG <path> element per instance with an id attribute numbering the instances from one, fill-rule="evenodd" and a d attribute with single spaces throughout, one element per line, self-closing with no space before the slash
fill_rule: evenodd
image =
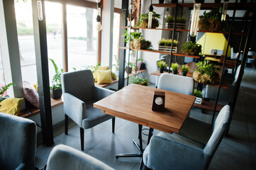
<path id="1" fill-rule="evenodd" d="M 37 81 L 37 73 L 31 0 L 26 2 L 15 1 L 15 13 L 22 79 L 23 81 L 30 82 L 30 84 L 35 84 Z"/>

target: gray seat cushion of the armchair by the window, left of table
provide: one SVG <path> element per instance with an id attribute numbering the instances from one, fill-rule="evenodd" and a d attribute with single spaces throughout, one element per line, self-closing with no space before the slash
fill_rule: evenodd
<path id="1" fill-rule="evenodd" d="M 94 127 L 95 125 L 98 125 L 99 123 L 104 122 L 105 120 L 114 118 L 112 115 L 107 115 L 105 113 L 102 113 L 101 110 L 98 108 L 93 107 L 93 103 L 96 101 L 91 100 L 85 102 L 86 105 L 86 118 L 82 120 L 82 128 L 89 129 Z"/>

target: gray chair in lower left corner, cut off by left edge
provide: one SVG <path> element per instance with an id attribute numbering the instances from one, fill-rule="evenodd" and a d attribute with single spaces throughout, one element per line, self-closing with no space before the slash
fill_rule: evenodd
<path id="1" fill-rule="evenodd" d="M 0 169 L 35 169 L 35 123 L 0 113 L 0 134 Z"/>

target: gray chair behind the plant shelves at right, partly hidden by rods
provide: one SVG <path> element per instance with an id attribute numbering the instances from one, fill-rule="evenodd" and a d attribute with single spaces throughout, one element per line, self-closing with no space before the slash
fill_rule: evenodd
<path id="1" fill-rule="evenodd" d="M 218 100 L 226 101 L 226 102 L 231 102 L 232 101 L 233 93 L 234 93 L 234 90 L 235 90 L 235 84 L 236 84 L 236 81 L 238 80 L 239 72 L 240 72 L 240 65 L 238 66 L 238 69 L 235 72 L 235 78 L 234 78 L 232 84 L 228 85 L 228 89 L 221 88 L 220 94 L 218 96 Z M 218 87 L 206 85 L 205 98 L 215 100 L 217 93 L 218 93 Z"/>

